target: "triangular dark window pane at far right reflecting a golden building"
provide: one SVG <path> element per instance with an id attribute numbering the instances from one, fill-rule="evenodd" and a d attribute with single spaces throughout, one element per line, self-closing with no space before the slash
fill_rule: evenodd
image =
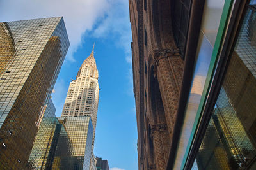
<path id="1" fill-rule="evenodd" d="M 250 6 L 196 155 L 198 169 L 255 169 L 255 25 L 255 6 Z"/>

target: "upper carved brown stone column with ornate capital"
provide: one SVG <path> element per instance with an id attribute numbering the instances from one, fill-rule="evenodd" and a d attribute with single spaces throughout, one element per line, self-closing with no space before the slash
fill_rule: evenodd
<path id="1" fill-rule="evenodd" d="M 166 122 L 171 138 L 179 103 L 183 70 L 184 62 L 180 58 L 178 48 L 154 51 L 154 76 L 157 76 L 159 82 Z"/>

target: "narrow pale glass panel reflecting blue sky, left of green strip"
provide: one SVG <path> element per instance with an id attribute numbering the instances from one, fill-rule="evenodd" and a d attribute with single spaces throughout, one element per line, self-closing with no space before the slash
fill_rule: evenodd
<path id="1" fill-rule="evenodd" d="M 196 64 L 193 74 L 192 86 L 189 94 L 189 101 L 185 111 L 184 124 L 182 125 L 180 141 L 178 144 L 175 168 L 180 169 L 182 161 L 186 159 L 185 154 L 189 148 L 189 139 L 193 132 L 193 125 L 196 119 L 196 113 L 202 92 L 204 90 L 205 80 L 211 62 L 213 46 L 220 25 L 221 13 L 225 0 L 214 5 L 215 0 L 205 1 L 203 20 L 198 40 L 198 49 L 196 52 Z M 214 16 L 212 16 L 214 15 Z M 212 24 L 214 23 L 214 24 Z"/>

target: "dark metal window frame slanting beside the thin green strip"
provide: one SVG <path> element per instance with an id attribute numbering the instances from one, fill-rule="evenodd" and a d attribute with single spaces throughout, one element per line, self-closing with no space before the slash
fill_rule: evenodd
<path id="1" fill-rule="evenodd" d="M 227 2 L 227 1 L 226 1 Z M 226 3 L 225 2 L 225 3 Z M 241 29 L 241 25 L 243 24 L 243 18 L 246 13 L 246 4 L 250 1 L 236 0 L 234 2 L 234 8 L 232 13 L 230 14 L 230 20 L 227 27 L 227 33 L 223 38 L 223 45 L 220 48 L 220 57 L 218 60 L 212 60 L 211 65 L 212 69 L 215 69 L 215 73 L 212 72 L 212 81 L 211 85 L 209 84 L 208 90 L 204 89 L 204 97 L 205 101 L 202 105 L 202 114 L 200 114 L 200 120 L 196 125 L 196 132 L 193 138 L 193 143 L 189 148 L 188 157 L 186 159 L 186 163 L 184 165 L 184 169 L 191 169 L 193 163 L 196 158 L 196 153 L 198 152 L 198 148 L 202 143 L 202 139 L 204 138 L 205 131 L 209 124 L 209 120 L 212 115 L 212 110 L 214 109 L 214 105 L 218 98 L 221 85 L 223 83 L 223 79 L 225 78 L 225 73 L 227 72 L 227 67 L 229 64 L 229 60 L 232 55 L 232 50 L 234 50 L 234 46 L 236 45 L 237 36 L 239 34 L 239 30 Z M 227 10 L 227 9 L 225 9 Z M 222 17 L 221 17 L 222 19 Z M 227 24 L 227 23 L 226 23 Z M 221 25 L 220 25 L 221 26 Z M 218 35 L 220 36 L 220 35 Z M 218 37 L 217 37 L 218 38 Z M 219 37 L 220 38 L 220 37 Z M 217 40 L 217 39 L 216 39 Z M 215 45 L 214 45 L 215 48 Z M 218 56 L 218 52 L 215 51 L 216 56 Z M 214 71 L 214 70 L 212 70 Z M 209 74 L 209 73 L 208 73 Z M 207 75 L 208 77 L 209 75 Z M 202 95 L 203 97 L 203 95 Z M 201 104 L 201 103 L 200 103 Z"/>

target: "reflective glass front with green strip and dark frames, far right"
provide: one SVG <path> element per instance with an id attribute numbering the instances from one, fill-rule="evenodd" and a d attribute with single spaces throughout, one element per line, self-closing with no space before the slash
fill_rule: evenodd
<path id="1" fill-rule="evenodd" d="M 173 169 L 256 169 L 256 1 L 207 0 Z"/>

